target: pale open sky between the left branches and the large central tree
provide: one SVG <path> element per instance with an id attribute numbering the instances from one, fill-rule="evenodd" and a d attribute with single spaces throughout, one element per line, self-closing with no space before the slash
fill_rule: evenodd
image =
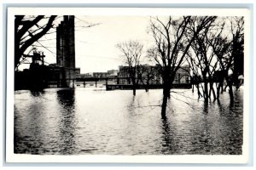
<path id="1" fill-rule="evenodd" d="M 55 26 L 61 19 L 55 21 Z M 143 43 L 144 56 L 152 45 L 152 36 L 148 33 L 149 19 L 148 16 L 75 16 L 76 67 L 81 73 L 119 69 L 119 65 L 125 65 L 125 59 L 116 44 L 129 40 Z M 94 24 L 97 25 L 87 27 Z M 46 64 L 56 62 L 55 36 L 54 32 L 40 39 L 39 42 L 47 48 L 37 47 L 38 51 L 44 51 Z M 28 66 L 20 65 L 20 69 Z"/>

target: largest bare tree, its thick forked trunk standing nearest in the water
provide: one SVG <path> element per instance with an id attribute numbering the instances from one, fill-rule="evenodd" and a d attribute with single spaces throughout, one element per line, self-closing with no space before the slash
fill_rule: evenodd
<path id="1" fill-rule="evenodd" d="M 155 47 L 148 49 L 149 57 L 160 65 L 161 77 L 163 79 L 163 101 L 161 116 L 166 117 L 166 104 L 170 98 L 172 82 L 177 70 L 183 65 L 184 57 L 187 54 L 195 37 L 209 25 L 215 16 L 204 17 L 168 17 L 167 20 L 151 18 L 151 32 L 154 37 Z M 193 31 L 190 31 L 192 23 Z M 188 38 L 187 35 L 190 35 Z"/>

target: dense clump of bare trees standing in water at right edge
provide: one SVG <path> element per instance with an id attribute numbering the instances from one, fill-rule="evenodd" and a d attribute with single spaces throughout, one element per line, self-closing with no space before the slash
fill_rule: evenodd
<path id="1" fill-rule="evenodd" d="M 225 80 L 232 101 L 233 85 L 243 74 L 243 18 L 225 17 L 212 21 L 195 37 L 186 59 L 192 70 L 191 77 L 201 77 L 201 88 L 196 86 L 199 98 L 218 99 L 220 90 L 224 91 Z"/>

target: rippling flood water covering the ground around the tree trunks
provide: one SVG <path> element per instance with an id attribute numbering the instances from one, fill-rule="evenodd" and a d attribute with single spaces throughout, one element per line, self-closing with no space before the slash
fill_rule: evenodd
<path id="1" fill-rule="evenodd" d="M 184 97 L 185 96 L 185 97 Z M 240 155 L 243 91 L 204 103 L 175 89 L 49 88 L 15 91 L 15 153 L 40 155 Z"/>

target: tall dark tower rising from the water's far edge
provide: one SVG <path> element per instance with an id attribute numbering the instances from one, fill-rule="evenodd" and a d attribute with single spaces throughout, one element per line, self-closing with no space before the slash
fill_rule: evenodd
<path id="1" fill-rule="evenodd" d="M 74 16 L 64 15 L 56 28 L 57 66 L 61 67 L 61 85 L 73 87 L 75 82 Z"/>

